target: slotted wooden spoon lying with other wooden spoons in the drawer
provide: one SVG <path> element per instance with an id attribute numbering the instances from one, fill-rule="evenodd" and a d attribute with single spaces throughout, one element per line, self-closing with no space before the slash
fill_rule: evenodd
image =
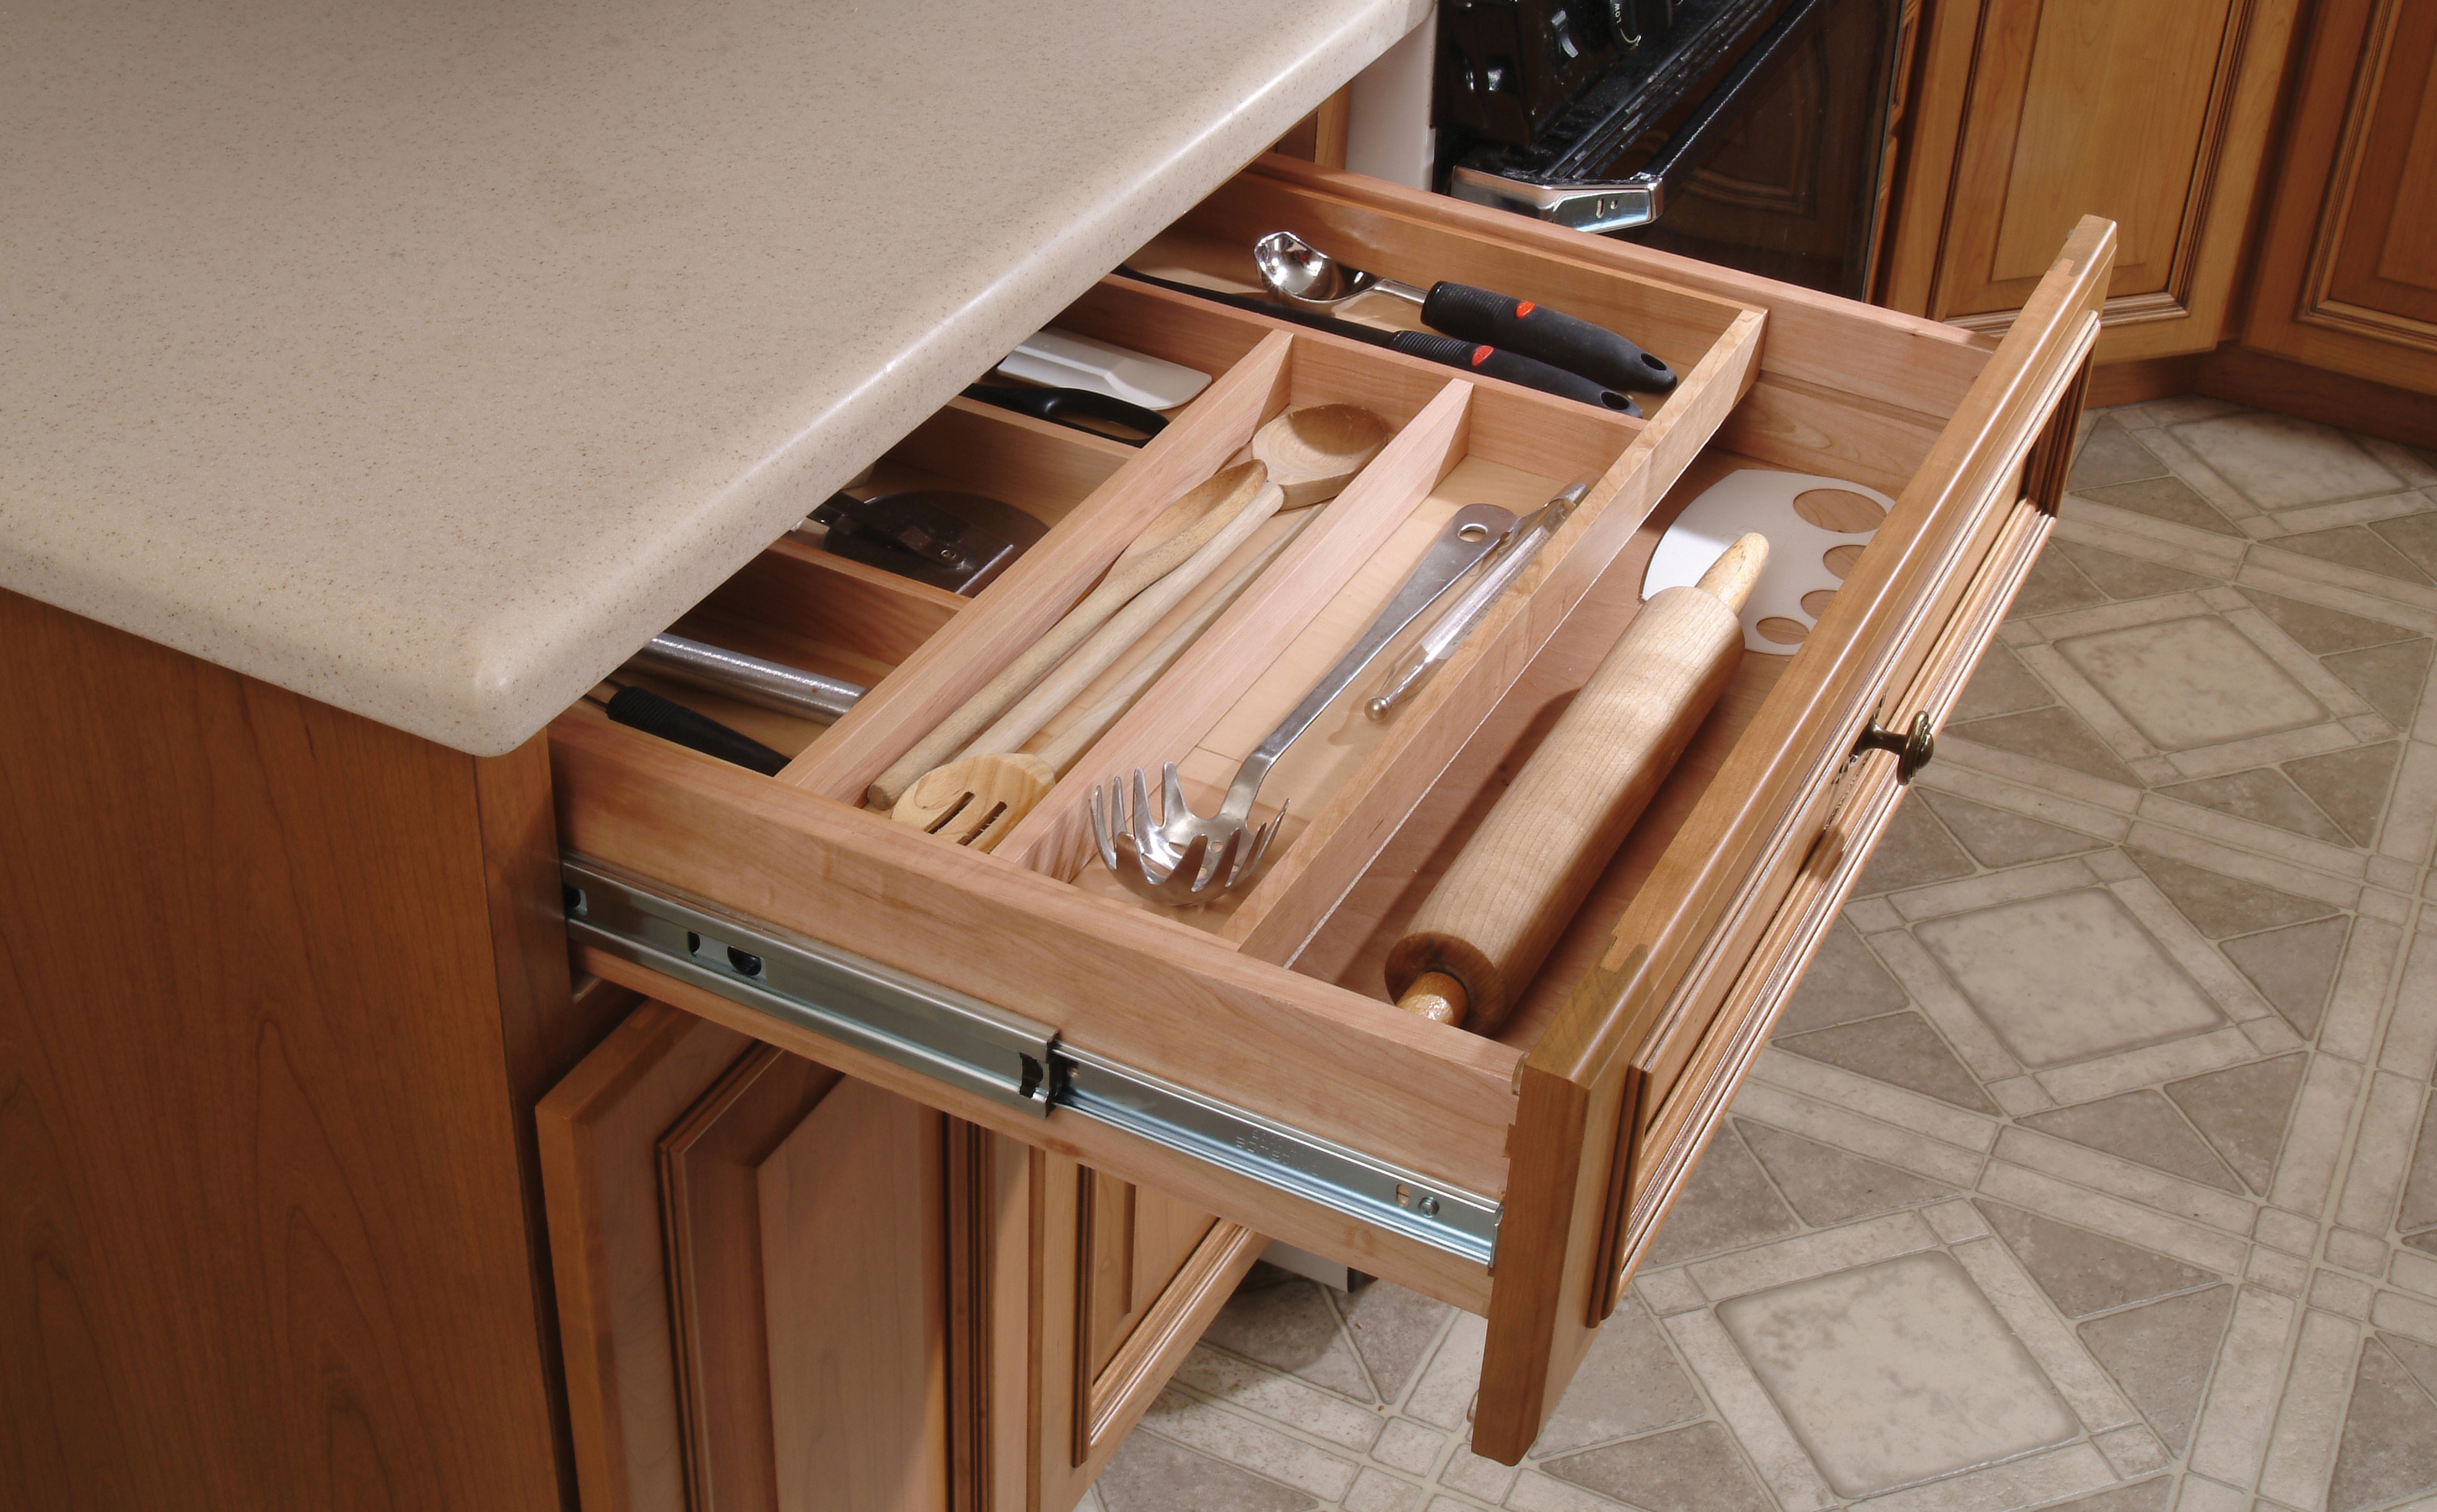
<path id="1" fill-rule="evenodd" d="M 1167 635 L 1160 638 L 1143 660 L 1126 667 L 1109 691 L 1104 691 L 1089 709 L 1084 709 L 1075 721 L 1058 733 L 1055 740 L 1043 745 L 1038 752 L 1026 750 L 980 750 L 972 755 L 960 755 L 946 767 L 924 772 L 921 779 L 907 789 L 907 796 L 897 799 L 897 808 L 890 818 L 897 823 L 919 825 L 931 835 L 948 835 L 958 845 L 970 845 L 972 850 L 997 850 L 999 840 L 1014 830 L 1026 813 L 1031 813 L 1041 799 L 1058 786 L 1058 777 L 1075 765 L 1094 740 L 1109 733 L 1126 709 L 1143 696 L 1153 682 L 1160 679 L 1167 667 L 1184 655 L 1201 631 L 1226 614 L 1228 604 L 1243 594 L 1245 587 L 1262 570 L 1277 560 L 1287 543 L 1292 543 L 1306 523 L 1311 523 L 1321 511 L 1306 509 L 1301 516 L 1279 531 L 1250 562 L 1236 570 L 1216 594 L 1204 599 L 1187 618 L 1177 623 Z"/>

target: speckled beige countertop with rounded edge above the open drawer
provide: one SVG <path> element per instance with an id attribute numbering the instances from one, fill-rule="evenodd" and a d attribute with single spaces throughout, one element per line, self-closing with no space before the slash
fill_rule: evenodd
<path id="1" fill-rule="evenodd" d="M 0 587 L 512 750 L 1426 12 L 29 0 Z"/>

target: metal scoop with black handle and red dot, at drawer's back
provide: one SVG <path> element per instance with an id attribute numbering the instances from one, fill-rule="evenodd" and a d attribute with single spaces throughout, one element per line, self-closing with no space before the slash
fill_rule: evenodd
<path id="1" fill-rule="evenodd" d="M 1674 368 L 1633 346 L 1606 326 L 1550 309 L 1535 299 L 1516 299 L 1467 282 L 1438 280 L 1416 290 L 1394 278 L 1348 268 L 1294 231 L 1270 231 L 1253 243 L 1260 282 L 1301 309 L 1340 309 L 1365 295 L 1394 295 L 1421 304 L 1421 324 L 1465 341 L 1487 341 L 1552 368 L 1579 373 L 1611 390 L 1664 394 L 1674 387 Z"/>

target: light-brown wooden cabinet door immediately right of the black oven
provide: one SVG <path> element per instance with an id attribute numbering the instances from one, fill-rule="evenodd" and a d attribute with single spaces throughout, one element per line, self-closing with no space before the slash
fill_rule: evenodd
<path id="1" fill-rule="evenodd" d="M 2296 0 L 1937 0 L 1881 302 L 2003 331 L 2084 214 L 2123 236 L 2098 360 L 2208 351 Z"/>

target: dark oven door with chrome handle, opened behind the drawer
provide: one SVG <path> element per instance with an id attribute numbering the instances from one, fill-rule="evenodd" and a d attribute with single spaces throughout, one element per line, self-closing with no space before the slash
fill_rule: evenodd
<path id="1" fill-rule="evenodd" d="M 1898 0 L 1696 0 L 1530 146 L 1477 146 L 1457 200 L 1869 295 Z"/>

